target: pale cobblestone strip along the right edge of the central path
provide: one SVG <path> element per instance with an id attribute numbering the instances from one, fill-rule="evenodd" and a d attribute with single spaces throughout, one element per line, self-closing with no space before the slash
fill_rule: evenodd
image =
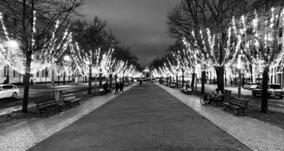
<path id="1" fill-rule="evenodd" d="M 220 107 L 202 106 L 197 96 L 181 94 L 179 89 L 171 89 L 161 84 L 159 86 L 252 150 L 284 150 L 282 128 L 248 116 L 234 116 L 232 111 L 224 111 Z"/>

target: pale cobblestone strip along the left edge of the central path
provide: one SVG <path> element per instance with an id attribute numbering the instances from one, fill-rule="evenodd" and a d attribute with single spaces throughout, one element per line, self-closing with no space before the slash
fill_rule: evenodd
<path id="1" fill-rule="evenodd" d="M 125 91 L 135 85 L 126 86 Z M 55 116 L 33 118 L 30 121 L 0 130 L 0 150 L 27 150 L 29 147 L 50 137 L 50 135 L 99 108 L 99 106 L 106 104 L 116 96 L 118 95 L 107 94 L 104 96 L 95 96 L 92 99 L 82 102 L 80 106 L 74 106 L 70 110 L 62 111 Z"/>

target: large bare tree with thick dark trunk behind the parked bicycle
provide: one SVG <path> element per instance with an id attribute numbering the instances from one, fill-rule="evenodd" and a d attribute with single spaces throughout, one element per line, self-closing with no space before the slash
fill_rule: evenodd
<path id="1" fill-rule="evenodd" d="M 214 54 L 209 57 L 217 72 L 218 88 L 224 91 L 224 63 L 226 42 L 228 40 L 227 29 L 232 16 L 239 16 L 246 7 L 246 1 L 241 0 L 182 0 L 180 5 L 171 9 L 168 13 L 168 34 L 173 38 L 185 37 L 194 45 L 192 31 L 209 28 L 219 37 L 215 43 Z M 197 38 L 197 45 L 204 47 L 201 38 Z M 214 60 L 217 58 L 217 60 Z"/>

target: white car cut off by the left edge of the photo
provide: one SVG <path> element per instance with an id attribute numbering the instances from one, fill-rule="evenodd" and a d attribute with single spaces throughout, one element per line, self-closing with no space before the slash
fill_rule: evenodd
<path id="1" fill-rule="evenodd" d="M 0 99 L 12 97 L 16 99 L 20 90 L 13 84 L 0 84 Z"/>

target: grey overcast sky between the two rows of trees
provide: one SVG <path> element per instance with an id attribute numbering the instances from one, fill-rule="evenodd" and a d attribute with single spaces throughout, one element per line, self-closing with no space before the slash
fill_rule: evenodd
<path id="1" fill-rule="evenodd" d="M 108 28 L 122 45 L 131 47 L 138 63 L 148 65 L 165 55 L 174 43 L 166 32 L 166 15 L 179 0 L 85 0 L 84 12 L 89 21 L 94 16 L 107 21 Z"/>

